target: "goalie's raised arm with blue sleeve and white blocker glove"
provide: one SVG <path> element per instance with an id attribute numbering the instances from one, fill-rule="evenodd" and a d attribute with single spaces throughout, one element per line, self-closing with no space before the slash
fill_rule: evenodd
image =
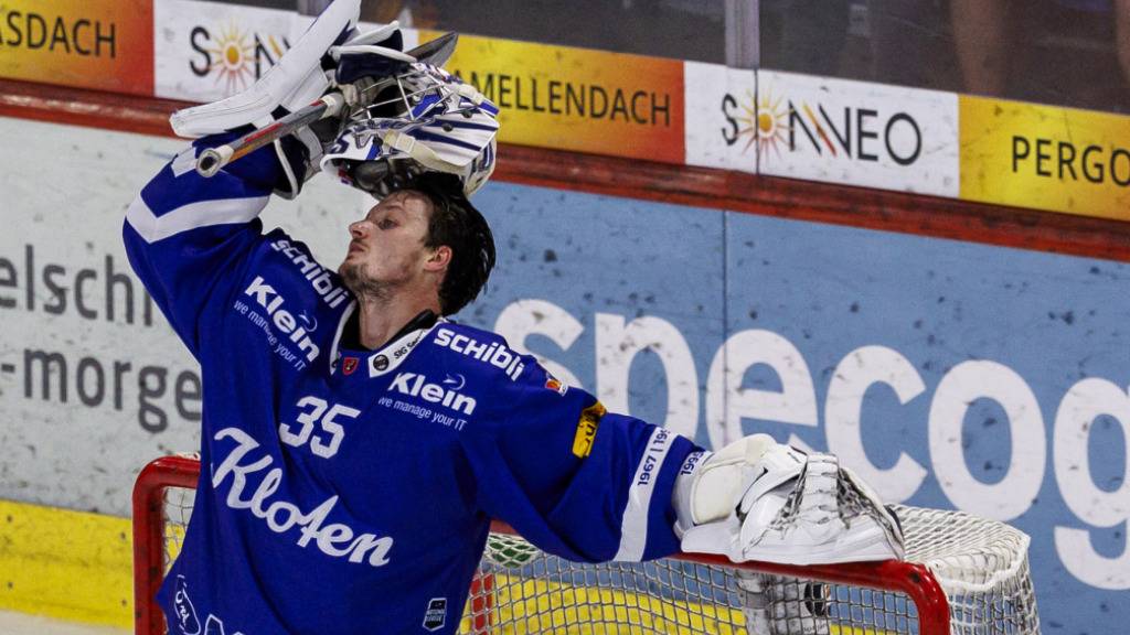
<path id="1" fill-rule="evenodd" d="M 287 128 L 286 134 L 241 154 L 210 179 L 198 174 L 198 159 L 245 136 L 261 137 L 277 128 L 277 120 L 323 95 L 332 95 L 338 108 L 367 104 L 365 87 L 374 88 L 376 77 L 416 60 L 400 51 L 397 24 L 359 33 L 358 11 L 359 0 L 332 3 L 260 81 L 171 118 L 177 134 L 195 141 L 134 199 L 123 232 L 134 270 L 193 354 L 209 301 L 241 280 L 236 270 L 262 233 L 258 216 L 270 194 L 298 194 L 319 171 L 323 145 L 336 138 L 342 121 L 321 121 L 318 132 L 315 124 Z"/>

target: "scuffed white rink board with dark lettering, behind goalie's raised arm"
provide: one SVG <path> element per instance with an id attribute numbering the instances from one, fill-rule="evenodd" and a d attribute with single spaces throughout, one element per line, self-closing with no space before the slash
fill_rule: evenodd
<path id="1" fill-rule="evenodd" d="M 5 118 L 0 139 L 0 498 L 128 516 L 141 466 L 198 446 L 199 367 L 147 314 L 121 243 L 125 208 L 185 142 Z M 307 186 L 263 220 L 336 263 L 367 199 Z"/>

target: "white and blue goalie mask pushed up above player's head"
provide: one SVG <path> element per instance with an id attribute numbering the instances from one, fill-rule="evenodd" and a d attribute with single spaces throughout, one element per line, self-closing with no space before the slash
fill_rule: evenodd
<path id="1" fill-rule="evenodd" d="M 426 171 L 458 176 L 468 197 L 490 177 L 498 108 L 473 86 L 427 62 L 356 86 L 322 169 L 379 199 Z"/>

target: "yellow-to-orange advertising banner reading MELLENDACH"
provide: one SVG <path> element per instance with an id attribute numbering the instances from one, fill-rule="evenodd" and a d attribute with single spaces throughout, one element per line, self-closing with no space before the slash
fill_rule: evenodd
<path id="1" fill-rule="evenodd" d="M 420 32 L 420 42 L 438 36 Z M 461 36 L 445 68 L 501 110 L 499 140 L 681 164 L 683 62 Z"/>

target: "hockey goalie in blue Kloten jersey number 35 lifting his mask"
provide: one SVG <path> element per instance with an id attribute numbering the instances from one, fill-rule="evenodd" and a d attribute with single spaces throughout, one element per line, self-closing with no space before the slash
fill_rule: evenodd
<path id="1" fill-rule="evenodd" d="M 201 462 L 158 601 L 171 633 L 454 633 L 490 519 L 582 562 L 899 558 L 896 519 L 834 456 L 716 452 L 607 412 L 449 316 L 495 262 L 470 203 L 498 110 L 338 0 L 255 86 L 176 113 L 195 141 L 129 207 L 130 261 L 203 377 Z M 205 177 L 202 149 L 341 105 Z M 379 200 L 336 267 L 260 211 L 319 172 Z"/>

